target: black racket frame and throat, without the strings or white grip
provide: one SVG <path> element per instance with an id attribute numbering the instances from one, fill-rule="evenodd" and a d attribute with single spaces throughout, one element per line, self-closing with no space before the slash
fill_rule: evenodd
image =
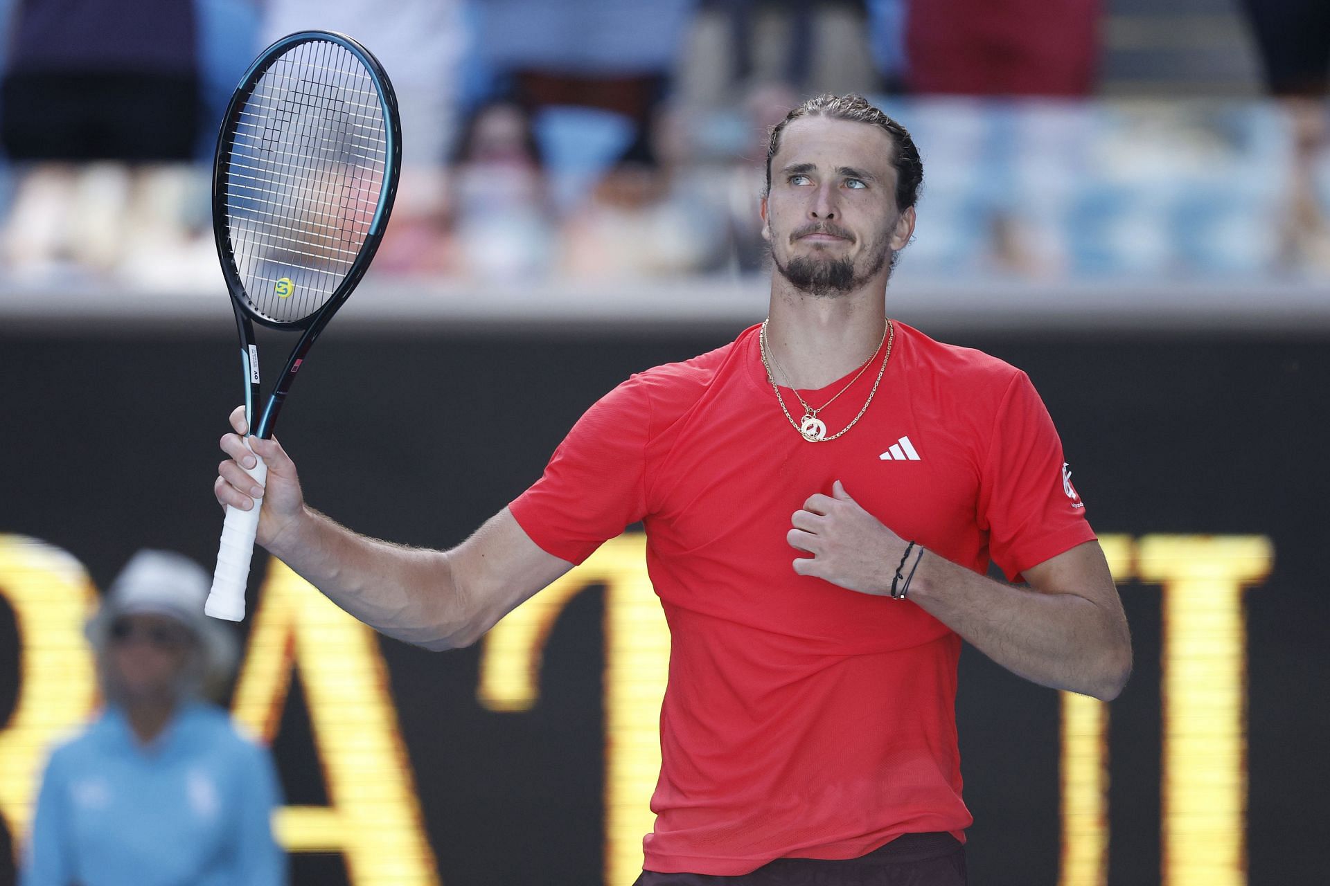
<path id="1" fill-rule="evenodd" d="M 351 268 L 338 284 L 336 290 L 334 290 L 327 302 L 325 302 L 323 306 L 313 313 L 301 317 L 299 320 L 282 323 L 266 317 L 255 311 L 250 307 L 245 298 L 245 284 L 241 282 L 239 268 L 235 264 L 235 256 L 230 247 L 231 228 L 227 223 L 226 213 L 226 179 L 230 163 L 229 158 L 223 162 L 223 151 L 230 149 L 234 139 L 234 132 L 239 121 L 241 108 L 249 100 L 254 85 L 265 73 L 267 73 L 267 69 L 273 65 L 273 62 L 302 43 L 318 41 L 338 44 L 356 56 L 356 58 L 359 58 L 370 72 L 370 80 L 374 82 L 374 88 L 379 94 L 379 101 L 384 108 L 387 108 L 387 141 L 384 147 L 383 187 L 379 191 L 379 202 L 378 206 L 375 206 L 374 218 L 370 221 L 370 230 L 368 234 L 366 234 L 364 244 L 360 247 Z M 319 333 L 323 332 L 323 327 L 326 327 L 329 320 L 332 319 L 332 315 L 336 313 L 338 308 L 340 308 L 347 298 L 350 298 L 351 292 L 360 282 L 360 278 L 364 276 L 364 271 L 370 267 L 370 262 L 374 259 L 374 254 L 378 251 L 379 243 L 383 239 L 383 230 L 388 223 L 388 217 L 392 213 L 392 202 L 396 195 L 398 175 L 400 170 L 402 124 L 398 116 L 398 98 L 396 93 L 392 90 L 392 82 L 388 80 L 387 73 L 384 73 L 383 65 L 379 64 L 379 60 L 375 58 L 374 54 L 362 46 L 356 40 L 343 33 L 334 31 L 299 31 L 282 37 L 254 60 L 254 64 L 251 64 L 241 77 L 235 92 L 231 93 L 231 100 L 226 105 L 226 116 L 222 118 L 222 126 L 217 134 L 217 150 L 213 155 L 213 236 L 217 243 L 217 258 L 222 266 L 222 276 L 226 279 L 226 287 L 231 296 L 231 308 L 235 312 L 235 327 L 241 337 L 241 364 L 246 381 L 245 420 L 249 422 L 250 434 L 263 440 L 273 434 L 273 425 L 277 422 L 277 416 L 282 409 L 282 402 L 286 400 L 291 383 L 295 381 L 297 372 L 299 372 L 305 363 L 305 355 L 309 352 L 315 339 L 319 337 Z M 263 406 L 263 413 L 259 416 L 258 421 L 255 421 L 254 410 L 262 399 L 262 392 L 259 388 L 258 341 L 254 337 L 255 323 L 274 329 L 303 329 L 301 340 L 295 344 L 291 349 L 291 355 L 286 359 L 282 375 L 273 387 L 273 391 L 267 397 L 267 402 Z"/>

